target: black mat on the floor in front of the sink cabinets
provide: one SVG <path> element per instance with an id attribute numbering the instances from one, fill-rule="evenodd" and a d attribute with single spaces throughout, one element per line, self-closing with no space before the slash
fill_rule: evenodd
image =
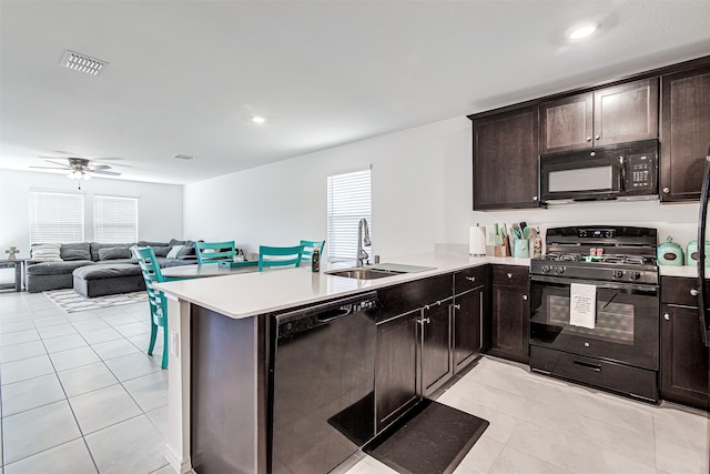
<path id="1" fill-rule="evenodd" d="M 452 473 L 488 424 L 460 410 L 425 400 L 363 451 L 400 474 Z"/>

